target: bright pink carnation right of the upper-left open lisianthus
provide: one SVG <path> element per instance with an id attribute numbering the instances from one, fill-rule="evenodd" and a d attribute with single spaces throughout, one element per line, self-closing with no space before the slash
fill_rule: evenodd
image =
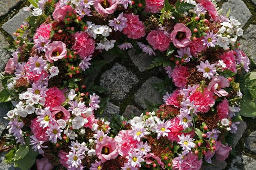
<path id="1" fill-rule="evenodd" d="M 75 44 L 73 45 L 72 50 L 77 51 L 81 58 L 88 57 L 94 52 L 95 41 L 89 34 L 85 32 L 77 32 L 74 36 Z"/>

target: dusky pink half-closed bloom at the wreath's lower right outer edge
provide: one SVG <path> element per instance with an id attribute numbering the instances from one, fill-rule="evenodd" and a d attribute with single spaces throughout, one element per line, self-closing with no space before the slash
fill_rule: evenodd
<path id="1" fill-rule="evenodd" d="M 217 151 L 215 152 L 215 157 L 218 161 L 224 161 L 232 150 L 231 146 L 229 147 L 228 144 L 223 145 L 220 142 L 217 142 L 216 148 Z"/>

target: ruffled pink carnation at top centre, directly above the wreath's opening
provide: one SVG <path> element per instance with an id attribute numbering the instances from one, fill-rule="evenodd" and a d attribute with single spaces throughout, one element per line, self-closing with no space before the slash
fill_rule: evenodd
<path id="1" fill-rule="evenodd" d="M 138 39 L 145 36 L 145 27 L 137 15 L 131 13 L 124 14 L 123 16 L 127 18 L 127 27 L 123 29 L 123 34 L 132 39 Z"/>

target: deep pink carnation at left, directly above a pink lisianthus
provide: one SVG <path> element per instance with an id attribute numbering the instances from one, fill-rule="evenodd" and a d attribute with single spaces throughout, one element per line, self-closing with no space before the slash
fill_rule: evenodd
<path id="1" fill-rule="evenodd" d="M 45 106 L 49 106 L 50 109 L 61 105 L 66 100 L 64 94 L 57 87 L 48 89 L 46 95 L 47 97 L 45 98 Z"/>

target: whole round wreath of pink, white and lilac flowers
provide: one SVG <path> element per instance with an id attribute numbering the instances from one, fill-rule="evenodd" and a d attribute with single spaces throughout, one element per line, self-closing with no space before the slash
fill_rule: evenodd
<path id="1" fill-rule="evenodd" d="M 6 116 L 7 162 L 22 170 L 199 170 L 228 157 L 245 101 L 237 82 L 250 76 L 250 60 L 236 42 L 240 23 L 214 0 L 29 1 L 32 15 L 14 33 L 17 49 L 1 74 L 0 100 L 15 106 Z M 140 117 L 95 118 L 100 101 L 83 84 L 86 71 L 102 51 L 137 47 L 155 56 L 150 68 L 163 66 L 174 90 Z M 255 81 L 242 82 L 255 99 Z"/>

